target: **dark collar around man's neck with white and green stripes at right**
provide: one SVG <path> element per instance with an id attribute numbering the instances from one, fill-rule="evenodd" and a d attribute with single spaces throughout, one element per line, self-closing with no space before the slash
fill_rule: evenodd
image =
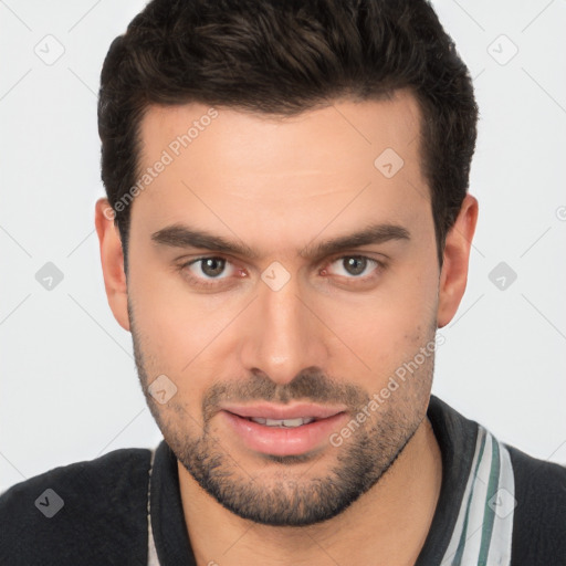
<path id="1" fill-rule="evenodd" d="M 509 566 L 516 501 L 507 449 L 436 396 L 427 416 L 442 453 L 442 486 L 415 566 Z M 196 566 L 177 460 L 165 441 L 151 452 L 147 495 L 148 566 Z"/>

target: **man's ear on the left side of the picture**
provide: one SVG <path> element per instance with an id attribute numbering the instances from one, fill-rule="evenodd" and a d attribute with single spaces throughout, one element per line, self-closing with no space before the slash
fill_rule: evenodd
<path id="1" fill-rule="evenodd" d="M 129 331 L 127 282 L 124 252 L 114 210 L 107 199 L 98 199 L 95 207 L 96 233 L 101 244 L 101 262 L 108 304 L 118 324 Z"/>

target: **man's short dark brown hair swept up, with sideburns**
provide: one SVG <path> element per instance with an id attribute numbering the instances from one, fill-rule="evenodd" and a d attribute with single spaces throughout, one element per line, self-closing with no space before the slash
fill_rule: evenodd
<path id="1" fill-rule="evenodd" d="M 114 40 L 98 98 L 102 180 L 126 256 L 139 124 L 191 102 L 290 116 L 337 98 L 410 88 L 439 260 L 468 190 L 478 106 L 454 43 L 426 0 L 153 0 Z M 122 208 L 122 207 L 120 207 Z"/>

